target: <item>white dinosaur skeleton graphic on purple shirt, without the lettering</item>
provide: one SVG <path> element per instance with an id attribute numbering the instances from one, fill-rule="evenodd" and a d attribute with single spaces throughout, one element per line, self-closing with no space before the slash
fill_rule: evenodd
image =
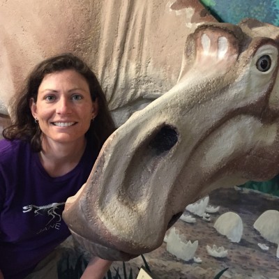
<path id="1" fill-rule="evenodd" d="M 55 217 L 59 218 L 57 222 L 61 220 L 61 215 L 59 213 L 56 213 L 56 209 L 59 209 L 59 206 L 64 205 L 65 202 L 54 202 L 52 204 L 47 204 L 43 206 L 36 206 L 34 204 L 30 204 L 27 206 L 22 207 L 22 212 L 27 213 L 29 211 L 33 211 L 35 213 L 35 216 L 38 215 L 47 215 L 47 216 L 52 216 L 51 220 L 48 221 L 47 225 L 54 220 Z"/>

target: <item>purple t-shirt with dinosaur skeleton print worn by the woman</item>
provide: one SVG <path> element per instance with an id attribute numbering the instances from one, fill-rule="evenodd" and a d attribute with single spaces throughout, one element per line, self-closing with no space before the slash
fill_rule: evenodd
<path id="1" fill-rule="evenodd" d="M 0 269 L 21 279 L 66 239 L 66 199 L 86 182 L 97 157 L 89 144 L 68 174 L 51 177 L 29 143 L 0 141 Z"/>

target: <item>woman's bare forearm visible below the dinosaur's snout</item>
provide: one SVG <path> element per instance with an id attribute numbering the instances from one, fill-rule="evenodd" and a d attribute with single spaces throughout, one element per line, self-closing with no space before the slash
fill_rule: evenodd
<path id="1" fill-rule="evenodd" d="M 103 279 L 112 262 L 100 257 L 93 257 L 86 266 L 80 279 Z M 0 277 L 1 279 L 1 277 Z"/>

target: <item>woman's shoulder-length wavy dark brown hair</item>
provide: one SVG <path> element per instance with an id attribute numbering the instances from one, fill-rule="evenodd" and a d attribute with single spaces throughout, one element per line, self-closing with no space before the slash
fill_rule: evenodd
<path id="1" fill-rule="evenodd" d="M 36 103 L 38 88 L 45 75 L 71 69 L 85 78 L 89 84 L 91 99 L 98 102 L 98 115 L 86 132 L 86 138 L 87 142 L 95 144 L 96 148 L 100 150 L 107 137 L 115 130 L 114 121 L 96 75 L 82 59 L 70 53 L 45 59 L 31 71 L 22 90 L 15 95 L 10 107 L 13 123 L 3 130 L 3 137 L 6 140 L 27 140 L 31 143 L 33 151 L 39 152 L 42 150 L 42 131 L 31 114 L 30 100 L 33 98 Z"/>

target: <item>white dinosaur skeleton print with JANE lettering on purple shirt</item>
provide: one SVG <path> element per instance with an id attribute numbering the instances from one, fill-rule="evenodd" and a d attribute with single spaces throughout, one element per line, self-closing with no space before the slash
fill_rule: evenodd
<path id="1" fill-rule="evenodd" d="M 47 204 L 43 206 L 36 206 L 34 204 L 30 204 L 22 207 L 22 212 L 27 213 L 29 211 L 33 211 L 35 216 L 50 216 L 50 220 L 47 222 L 43 229 L 40 229 L 37 234 L 40 232 L 47 231 L 49 229 L 60 229 L 61 225 L 61 214 L 57 213 L 56 210 L 59 209 L 59 206 L 63 206 L 65 202 L 54 202 L 52 204 Z"/>

